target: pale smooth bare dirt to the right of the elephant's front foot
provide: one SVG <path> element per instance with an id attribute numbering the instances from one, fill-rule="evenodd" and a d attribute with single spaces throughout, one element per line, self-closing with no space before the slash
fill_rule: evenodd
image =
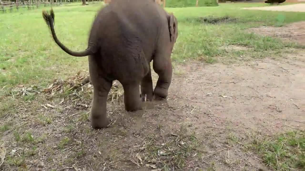
<path id="1" fill-rule="evenodd" d="M 196 106 L 193 116 L 204 118 L 194 122 L 199 127 L 206 127 L 208 116 L 214 115 L 215 127 L 223 127 L 226 120 L 246 130 L 272 127 L 277 132 L 285 123 L 305 128 L 305 51 L 287 58 L 232 66 L 185 65 L 185 73 L 174 77 L 171 96 Z"/>

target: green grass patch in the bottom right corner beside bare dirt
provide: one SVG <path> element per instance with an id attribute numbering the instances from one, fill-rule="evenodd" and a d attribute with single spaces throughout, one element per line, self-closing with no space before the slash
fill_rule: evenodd
<path id="1" fill-rule="evenodd" d="M 305 132 L 294 131 L 272 138 L 255 139 L 253 150 L 275 170 L 305 169 Z"/>

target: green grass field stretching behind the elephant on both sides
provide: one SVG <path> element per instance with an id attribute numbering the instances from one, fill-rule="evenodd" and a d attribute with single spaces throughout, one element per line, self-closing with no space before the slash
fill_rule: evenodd
<path id="1" fill-rule="evenodd" d="M 280 53 L 294 44 L 282 43 L 271 37 L 243 32 L 243 29 L 261 25 L 283 25 L 305 19 L 305 13 L 242 10 L 242 7 L 262 6 L 262 3 L 220 4 L 218 7 L 166 8 L 174 12 L 179 22 L 179 37 L 172 59 L 201 59 L 216 62 L 215 57 L 264 58 Z M 72 50 L 87 47 L 88 33 L 101 4 L 82 6 L 72 3 L 54 7 L 55 30 L 59 39 Z M 50 7 L 45 7 L 49 9 Z M 0 32 L 0 86 L 38 83 L 63 78 L 78 70 L 87 69 L 88 59 L 75 58 L 63 52 L 54 42 L 41 16 L 40 9 L 20 9 L 19 12 L 1 14 Z M 191 11 L 191 12 L 190 12 Z M 229 16 L 235 22 L 207 24 L 200 18 Z M 35 24 L 32 24 L 35 23 Z M 240 45 L 251 47 L 248 51 L 227 54 L 220 47 Z M 27 97 L 25 100 L 31 100 Z"/>

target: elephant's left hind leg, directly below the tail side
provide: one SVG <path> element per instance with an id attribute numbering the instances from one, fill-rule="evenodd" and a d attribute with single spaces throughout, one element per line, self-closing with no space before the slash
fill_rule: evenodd
<path id="1" fill-rule="evenodd" d="M 109 124 L 107 118 L 107 97 L 112 82 L 99 79 L 99 84 L 93 85 L 93 103 L 91 107 L 91 126 L 95 129 L 105 128 Z"/>

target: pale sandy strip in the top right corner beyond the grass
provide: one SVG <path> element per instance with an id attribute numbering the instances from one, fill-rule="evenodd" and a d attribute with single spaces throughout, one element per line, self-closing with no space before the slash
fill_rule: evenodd
<path id="1" fill-rule="evenodd" d="M 267 10 L 267 11 L 291 11 L 291 12 L 305 12 L 305 4 L 292 4 L 292 5 L 274 5 L 265 7 L 249 7 L 242 9 L 253 9 L 253 10 Z"/>

